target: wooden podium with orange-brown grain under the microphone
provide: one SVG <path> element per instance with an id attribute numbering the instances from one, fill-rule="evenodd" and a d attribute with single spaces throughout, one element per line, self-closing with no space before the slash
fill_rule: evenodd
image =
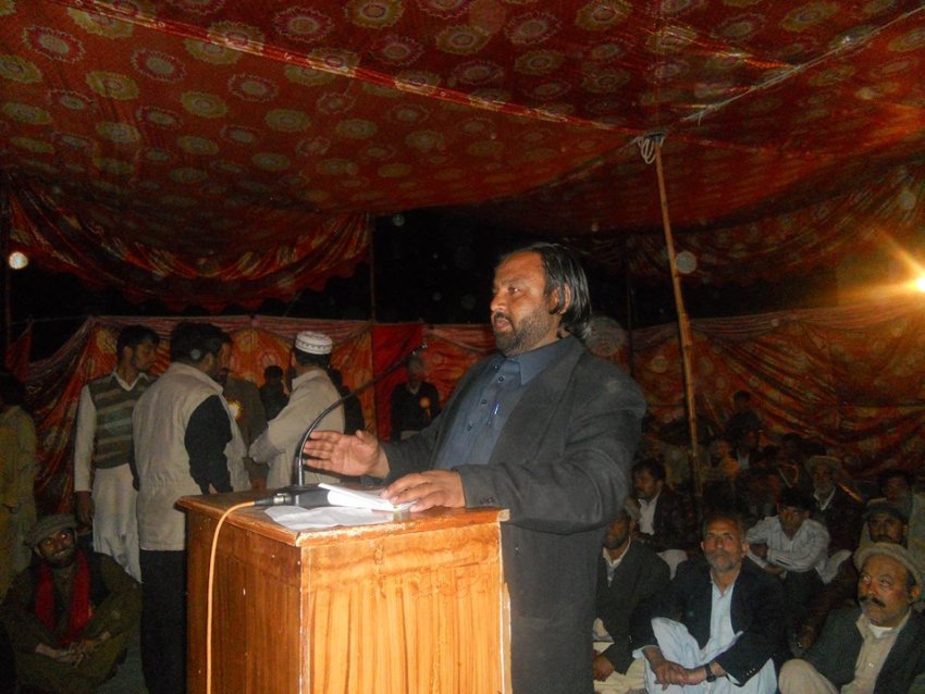
<path id="1" fill-rule="evenodd" d="M 190 694 L 206 691 L 209 552 L 221 515 L 255 493 L 184 497 Z M 296 532 L 263 509 L 219 536 L 215 694 L 510 692 L 497 509 L 432 509 Z"/>

